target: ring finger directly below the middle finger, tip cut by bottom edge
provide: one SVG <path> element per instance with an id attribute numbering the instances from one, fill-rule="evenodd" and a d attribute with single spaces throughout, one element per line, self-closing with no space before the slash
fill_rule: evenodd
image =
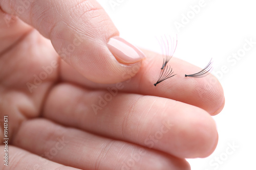
<path id="1" fill-rule="evenodd" d="M 24 123 L 13 143 L 51 161 L 81 169 L 190 169 L 184 159 L 65 128 L 46 119 Z"/>

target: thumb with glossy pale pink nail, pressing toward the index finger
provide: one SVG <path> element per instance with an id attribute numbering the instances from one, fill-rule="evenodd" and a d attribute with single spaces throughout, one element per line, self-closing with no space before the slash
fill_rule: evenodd
<path id="1" fill-rule="evenodd" d="M 15 14 L 49 38 L 59 56 L 87 79 L 116 83 L 135 75 L 145 55 L 120 38 L 95 0 L 3 0 L 2 10 Z M 137 69 L 133 69 L 136 67 Z"/>

